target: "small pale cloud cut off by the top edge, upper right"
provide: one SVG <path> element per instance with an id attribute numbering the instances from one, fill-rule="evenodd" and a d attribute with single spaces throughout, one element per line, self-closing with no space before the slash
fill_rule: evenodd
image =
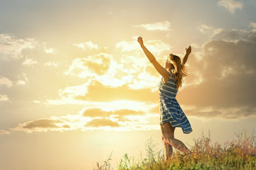
<path id="1" fill-rule="evenodd" d="M 223 6 L 224 8 L 228 9 L 230 13 L 233 14 L 235 12 L 235 9 L 242 9 L 243 2 L 235 0 L 221 0 L 218 1 L 218 6 Z"/>

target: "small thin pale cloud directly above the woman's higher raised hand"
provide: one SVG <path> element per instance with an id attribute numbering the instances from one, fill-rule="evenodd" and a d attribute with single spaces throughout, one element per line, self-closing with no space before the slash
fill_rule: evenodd
<path id="1" fill-rule="evenodd" d="M 144 28 L 146 30 L 171 30 L 171 23 L 169 21 L 163 21 L 158 23 L 139 24 L 134 27 Z"/>

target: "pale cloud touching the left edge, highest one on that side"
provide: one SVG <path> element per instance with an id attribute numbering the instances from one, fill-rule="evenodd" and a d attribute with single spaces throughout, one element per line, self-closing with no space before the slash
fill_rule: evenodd
<path id="1" fill-rule="evenodd" d="M 0 55 L 4 59 L 22 58 L 22 51 L 25 49 L 33 49 L 38 42 L 33 38 L 17 39 L 7 34 L 0 34 Z"/>

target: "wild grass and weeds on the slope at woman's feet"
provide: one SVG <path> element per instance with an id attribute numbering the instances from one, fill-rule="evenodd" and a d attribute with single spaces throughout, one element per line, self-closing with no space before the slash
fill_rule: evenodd
<path id="1" fill-rule="evenodd" d="M 255 135 L 247 136 L 247 131 L 242 130 L 235 134 L 237 140 L 225 142 L 223 147 L 218 142 L 211 143 L 210 132 L 208 137 L 202 135 L 194 139 L 191 146 L 191 155 L 183 155 L 176 150 L 171 159 L 164 161 L 163 149 L 156 150 L 156 143 L 150 138 L 146 142 L 146 158 L 135 161 L 133 157 L 124 154 L 117 163 L 116 169 L 256 169 L 256 142 Z M 142 154 L 141 154 L 142 155 Z M 111 157 L 99 164 L 97 170 L 112 170 Z"/>

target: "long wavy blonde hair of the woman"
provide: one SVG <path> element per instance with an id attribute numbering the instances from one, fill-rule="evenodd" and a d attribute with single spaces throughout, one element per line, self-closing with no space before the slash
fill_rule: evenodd
<path id="1" fill-rule="evenodd" d="M 188 76 L 187 74 L 187 67 L 181 64 L 181 58 L 170 54 L 167 62 L 174 65 L 174 69 L 171 69 L 171 77 L 174 78 L 174 81 L 176 83 L 176 89 L 181 88 L 183 83 L 183 77 Z"/>

